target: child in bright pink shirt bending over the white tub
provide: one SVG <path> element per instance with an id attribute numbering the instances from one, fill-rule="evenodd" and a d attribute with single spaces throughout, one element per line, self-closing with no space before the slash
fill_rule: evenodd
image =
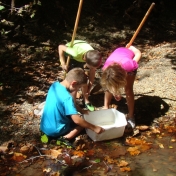
<path id="1" fill-rule="evenodd" d="M 138 69 L 141 52 L 134 46 L 117 48 L 106 60 L 103 66 L 101 85 L 106 90 L 104 109 L 108 109 L 114 96 L 121 99 L 121 89 L 125 89 L 128 106 L 128 126 L 135 127 L 133 84 Z"/>

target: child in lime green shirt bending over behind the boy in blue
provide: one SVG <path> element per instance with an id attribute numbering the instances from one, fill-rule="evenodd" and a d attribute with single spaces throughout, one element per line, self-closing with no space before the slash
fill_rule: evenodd
<path id="1" fill-rule="evenodd" d="M 72 47 L 70 47 L 70 44 L 71 43 L 67 43 L 66 45 L 58 46 L 60 63 L 62 68 L 68 71 L 65 60 L 66 54 L 71 56 L 71 61 L 74 60 L 78 63 L 82 63 L 82 65 L 86 63 L 86 66 L 90 69 L 89 81 L 82 87 L 82 92 L 86 108 L 90 111 L 94 111 L 94 106 L 90 103 L 88 96 L 94 82 L 95 71 L 102 63 L 102 55 L 85 41 L 75 40 Z"/>

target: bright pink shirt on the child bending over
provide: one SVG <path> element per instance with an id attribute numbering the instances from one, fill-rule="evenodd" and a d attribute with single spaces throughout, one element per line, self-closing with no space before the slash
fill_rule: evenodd
<path id="1" fill-rule="evenodd" d="M 126 72 L 132 72 L 138 68 L 133 51 L 125 47 L 117 48 L 105 61 L 103 70 L 113 63 L 118 63 Z"/>

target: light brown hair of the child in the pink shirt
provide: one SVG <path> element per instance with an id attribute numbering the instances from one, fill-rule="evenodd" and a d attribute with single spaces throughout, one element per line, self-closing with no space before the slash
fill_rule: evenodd
<path id="1" fill-rule="evenodd" d="M 102 73 L 101 86 L 113 95 L 118 95 L 126 85 L 126 71 L 121 65 L 114 63 L 108 66 Z"/>

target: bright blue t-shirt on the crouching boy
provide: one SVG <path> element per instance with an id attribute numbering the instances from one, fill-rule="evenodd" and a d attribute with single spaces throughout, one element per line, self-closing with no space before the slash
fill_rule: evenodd
<path id="1" fill-rule="evenodd" d="M 71 130 L 73 114 L 77 114 L 73 97 L 66 87 L 54 82 L 47 94 L 40 129 L 51 137 L 63 135 Z"/>

